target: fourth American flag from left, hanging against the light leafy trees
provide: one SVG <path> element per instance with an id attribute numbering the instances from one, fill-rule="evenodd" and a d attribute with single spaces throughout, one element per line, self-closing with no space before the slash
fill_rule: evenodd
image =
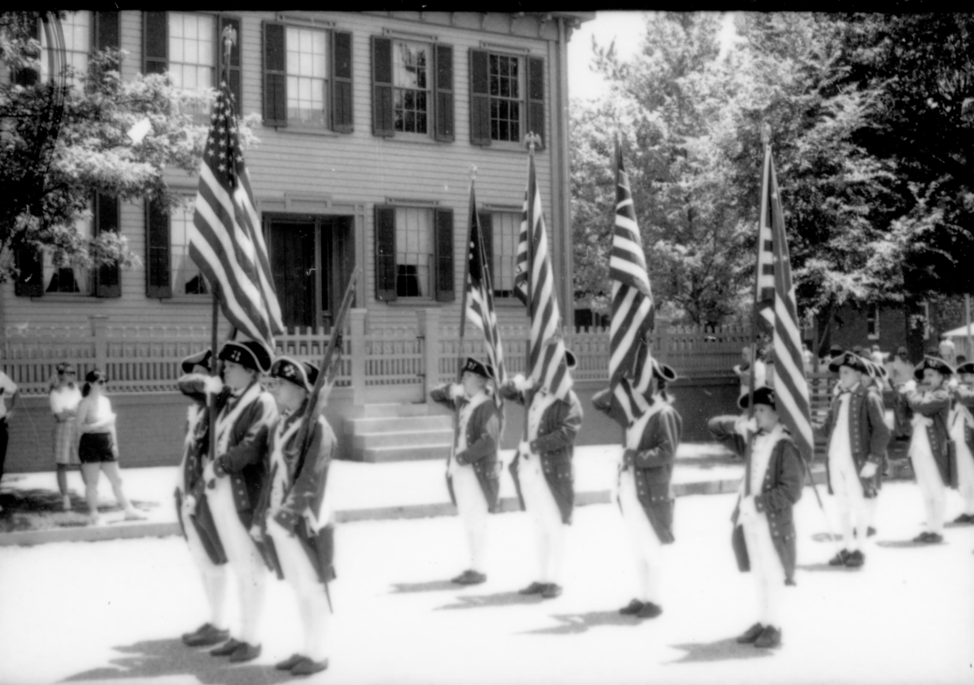
<path id="1" fill-rule="evenodd" d="M 618 143 L 616 157 L 616 231 L 609 258 L 612 280 L 609 385 L 615 394 L 619 380 L 630 379 L 626 389 L 642 394 L 653 378 L 653 356 L 647 340 L 653 331 L 653 293 L 629 190 L 629 175 Z"/>

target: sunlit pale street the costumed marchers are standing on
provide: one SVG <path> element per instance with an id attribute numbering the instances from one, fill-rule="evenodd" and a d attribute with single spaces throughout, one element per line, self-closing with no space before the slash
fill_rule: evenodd
<path id="1" fill-rule="evenodd" d="M 321 683 L 960 683 L 974 662 L 974 526 L 946 542 L 907 542 L 920 529 L 915 485 L 885 487 L 866 566 L 835 570 L 809 489 L 798 507 L 798 587 L 773 651 L 736 645 L 755 620 L 751 577 L 736 571 L 732 495 L 677 500 L 666 549 L 664 613 L 621 617 L 634 574 L 618 510 L 576 510 L 566 591 L 514 591 L 533 580 L 524 514 L 491 521 L 486 584 L 461 589 L 460 522 L 443 517 L 345 523 L 331 667 Z M 957 513 L 952 495 L 949 515 Z M 297 612 L 272 582 L 263 656 L 231 667 L 177 635 L 205 620 L 202 589 L 181 539 L 58 543 L 0 549 L 0 683 L 274 683 L 294 651 Z"/>

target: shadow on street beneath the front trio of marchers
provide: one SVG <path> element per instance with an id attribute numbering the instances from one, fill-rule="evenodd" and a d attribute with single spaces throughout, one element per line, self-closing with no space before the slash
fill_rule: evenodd
<path id="1" fill-rule="evenodd" d="M 294 680 L 289 671 L 252 663 L 231 664 L 226 657 L 209 656 L 209 648 L 187 647 L 179 639 L 144 640 L 114 649 L 131 656 L 112 659 L 112 667 L 92 668 L 62 682 L 131 682 L 172 675 L 191 675 L 206 685 L 271 685 Z"/>

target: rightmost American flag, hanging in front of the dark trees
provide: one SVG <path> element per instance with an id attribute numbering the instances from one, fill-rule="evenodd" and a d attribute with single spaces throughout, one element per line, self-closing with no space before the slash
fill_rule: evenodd
<path id="1" fill-rule="evenodd" d="M 810 461 L 814 442 L 811 433 L 808 383 L 802 358 L 802 333 L 795 305 L 795 287 L 788 258 L 784 215 L 774 173 L 771 149 L 765 151 L 762 178 L 761 225 L 758 245 L 757 306 L 759 330 L 773 341 L 774 394 L 778 415 L 791 431 L 795 445 Z"/>

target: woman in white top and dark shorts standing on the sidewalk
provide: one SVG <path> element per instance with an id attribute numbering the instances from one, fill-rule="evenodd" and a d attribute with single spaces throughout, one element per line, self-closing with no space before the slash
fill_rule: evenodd
<path id="1" fill-rule="evenodd" d="M 81 404 L 75 427 L 81 439 L 78 443 L 78 457 L 85 477 L 85 491 L 88 497 L 88 511 L 92 525 L 100 523 L 98 517 L 98 475 L 104 472 L 112 484 L 115 498 L 125 509 L 126 521 L 144 517 L 131 506 L 122 491 L 122 476 L 119 474 L 118 437 L 115 433 L 115 414 L 112 403 L 104 394 L 108 379 L 100 369 L 88 372 L 81 388 Z"/>

